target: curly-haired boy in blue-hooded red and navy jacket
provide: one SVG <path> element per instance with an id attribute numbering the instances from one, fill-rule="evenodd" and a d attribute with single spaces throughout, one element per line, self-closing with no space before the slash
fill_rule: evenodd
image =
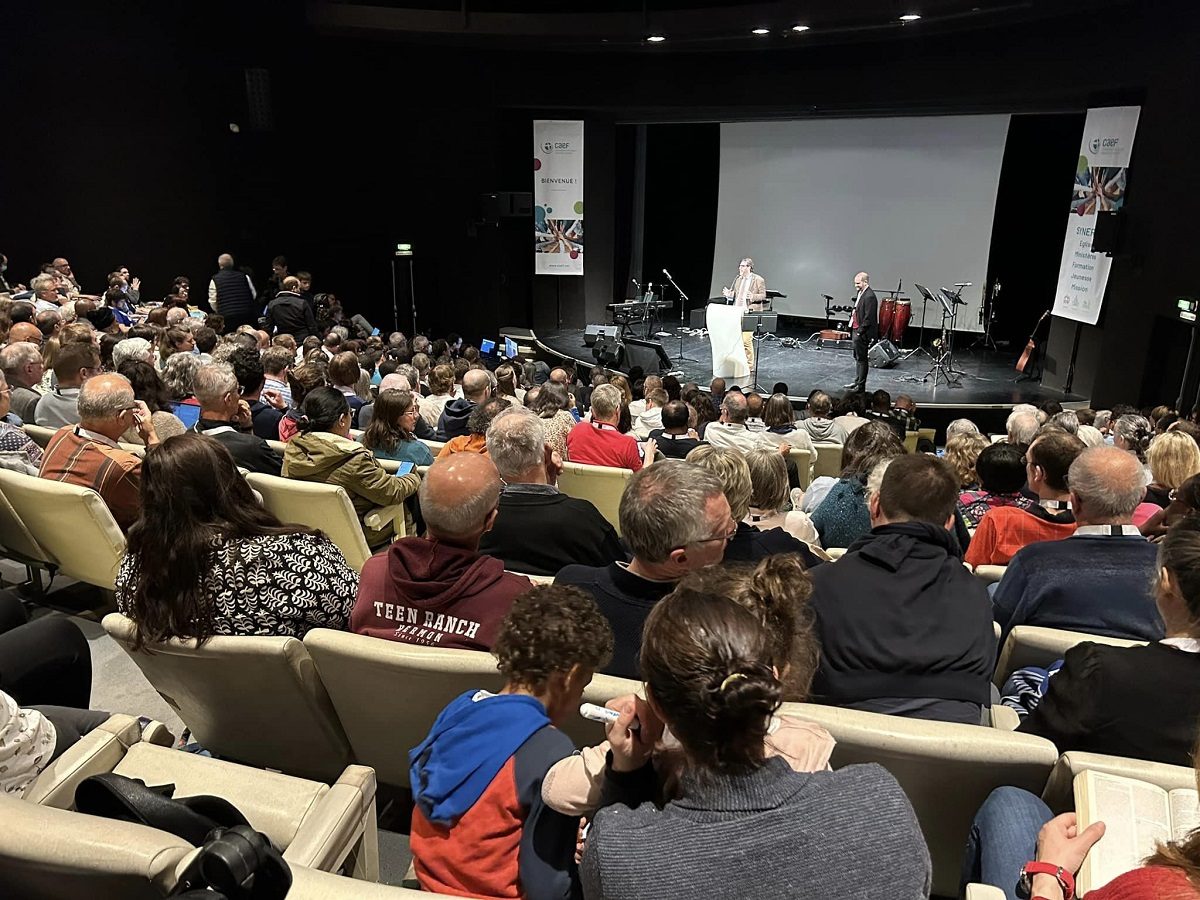
<path id="1" fill-rule="evenodd" d="M 575 752 L 554 726 L 612 656 L 612 629 L 589 595 L 546 584 L 514 601 L 492 653 L 504 689 L 457 697 L 408 755 L 416 876 L 444 894 L 578 896 L 578 820 L 546 806 L 541 782 Z"/>

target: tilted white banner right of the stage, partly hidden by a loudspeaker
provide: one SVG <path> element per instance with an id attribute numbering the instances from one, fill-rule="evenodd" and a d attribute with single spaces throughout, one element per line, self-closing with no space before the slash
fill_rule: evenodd
<path id="1" fill-rule="evenodd" d="M 1054 314 L 1094 325 L 1109 283 L 1111 257 L 1092 252 L 1096 217 L 1124 205 L 1126 179 L 1141 107 L 1088 109 L 1070 194 L 1067 240 L 1058 266 Z"/>

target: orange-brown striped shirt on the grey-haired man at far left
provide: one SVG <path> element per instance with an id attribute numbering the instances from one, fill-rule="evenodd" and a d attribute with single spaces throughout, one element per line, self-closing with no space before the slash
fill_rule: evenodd
<path id="1" fill-rule="evenodd" d="M 90 487 L 104 498 L 122 532 L 142 511 L 142 460 L 121 450 L 115 440 L 64 425 L 46 445 L 42 478 Z"/>

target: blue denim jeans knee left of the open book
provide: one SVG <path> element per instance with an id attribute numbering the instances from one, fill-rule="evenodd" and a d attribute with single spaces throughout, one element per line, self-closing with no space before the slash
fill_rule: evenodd
<path id="1" fill-rule="evenodd" d="M 1018 900 L 1016 884 L 1021 866 L 1034 858 L 1038 832 L 1054 818 L 1042 799 L 1019 787 L 992 791 L 971 823 L 966 856 L 962 859 L 962 886 L 971 882 L 991 884 Z"/>

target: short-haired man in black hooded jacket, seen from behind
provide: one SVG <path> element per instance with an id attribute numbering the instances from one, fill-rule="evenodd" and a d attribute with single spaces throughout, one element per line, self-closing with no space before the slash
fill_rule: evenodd
<path id="1" fill-rule="evenodd" d="M 988 592 L 948 530 L 958 480 L 934 456 L 886 464 L 868 496 L 870 534 L 810 572 L 821 641 L 814 701 L 978 725 L 996 637 Z"/>

